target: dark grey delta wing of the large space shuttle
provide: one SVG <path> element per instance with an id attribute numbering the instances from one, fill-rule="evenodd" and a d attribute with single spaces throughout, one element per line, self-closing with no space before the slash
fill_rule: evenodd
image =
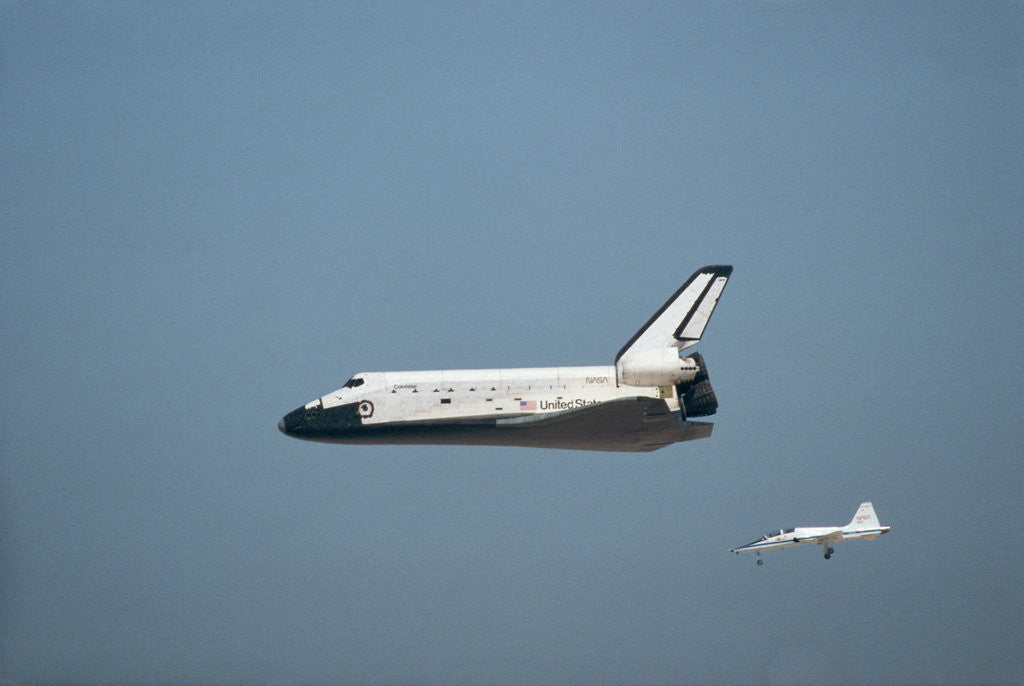
<path id="1" fill-rule="evenodd" d="M 643 453 L 707 438 L 713 427 L 710 422 L 680 420 L 664 399 L 642 396 L 495 423 L 503 444 Z"/>

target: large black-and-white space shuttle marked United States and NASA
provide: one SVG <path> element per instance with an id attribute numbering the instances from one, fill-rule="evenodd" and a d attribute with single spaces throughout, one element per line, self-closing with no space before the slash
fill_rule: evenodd
<path id="1" fill-rule="evenodd" d="M 285 415 L 285 434 L 326 443 L 520 445 L 646 452 L 707 438 L 718 400 L 698 353 L 731 266 L 698 269 L 614 363 L 367 372 Z"/>

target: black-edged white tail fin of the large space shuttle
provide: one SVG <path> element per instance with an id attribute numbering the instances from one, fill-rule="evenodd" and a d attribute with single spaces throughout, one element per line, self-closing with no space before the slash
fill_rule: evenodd
<path id="1" fill-rule="evenodd" d="M 712 265 L 693 272 L 623 346 L 615 355 L 615 362 L 634 352 L 660 348 L 682 350 L 699 343 L 730 274 L 732 267 L 729 265 Z"/>

